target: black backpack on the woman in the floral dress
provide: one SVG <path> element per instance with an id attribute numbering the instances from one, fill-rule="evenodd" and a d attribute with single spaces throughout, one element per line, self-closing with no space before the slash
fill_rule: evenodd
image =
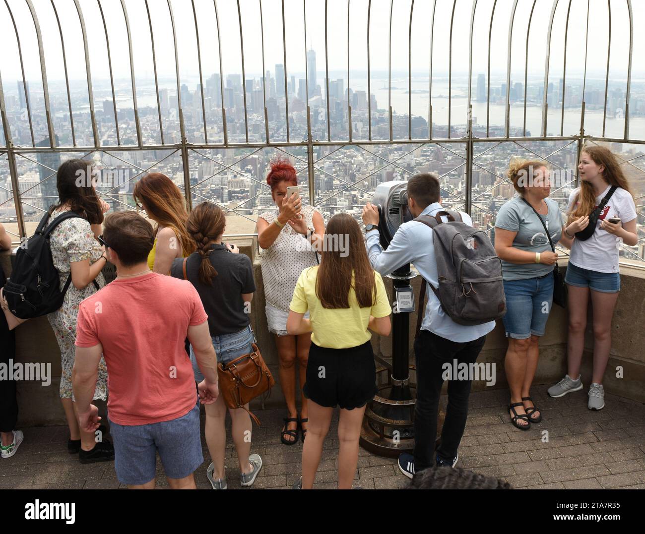
<path id="1" fill-rule="evenodd" d="M 54 267 L 49 236 L 61 222 L 74 217 L 84 219 L 78 213 L 65 212 L 47 226 L 49 213 L 45 213 L 34 236 L 17 249 L 14 268 L 6 281 L 4 294 L 9 310 L 19 319 L 40 317 L 63 306 L 65 293 L 72 282 L 72 273 L 70 272 L 61 290 L 60 276 Z M 99 288 L 96 281 L 94 286 Z"/>

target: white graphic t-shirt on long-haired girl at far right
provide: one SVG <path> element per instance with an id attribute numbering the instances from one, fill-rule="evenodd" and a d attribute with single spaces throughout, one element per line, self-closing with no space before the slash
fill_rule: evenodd
<path id="1" fill-rule="evenodd" d="M 595 207 L 609 193 L 610 187 L 607 186 L 606 190 L 596 197 Z M 577 204 L 579 192 L 580 188 L 577 188 L 569 195 L 568 212 L 575 209 L 573 204 Z M 611 199 L 609 199 L 602 213 L 600 213 L 593 235 L 586 241 L 581 241 L 580 239 L 573 240 L 569 261 L 576 267 L 600 273 L 619 272 L 619 246 L 622 239 L 600 228 L 600 221 L 611 219 L 611 217 L 618 217 L 622 221 L 623 226 L 626 222 L 633 221 L 636 218 L 636 206 L 633 197 L 629 192 L 620 187 L 613 192 Z"/>

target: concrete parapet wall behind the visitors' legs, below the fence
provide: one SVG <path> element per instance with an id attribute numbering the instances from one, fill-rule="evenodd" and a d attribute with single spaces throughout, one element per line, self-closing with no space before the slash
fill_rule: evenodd
<path id="1" fill-rule="evenodd" d="M 266 360 L 273 377 L 277 382 L 270 397 L 264 402 L 256 399 L 252 409 L 281 408 L 284 398 L 279 387 L 279 360 L 273 335 L 268 332 L 264 312 L 263 279 L 260 267 L 261 255 L 256 255 L 256 239 L 235 241 L 241 252 L 253 260 L 255 282 L 258 288 L 253 297 L 251 324 L 257 336 L 258 346 Z M 0 264 L 8 276 L 11 272 L 10 253 L 0 252 Z M 566 269 L 566 261 L 561 262 Z M 608 393 L 619 397 L 645 402 L 645 272 L 637 268 L 624 267 L 620 272 L 621 291 L 611 326 L 611 357 L 605 375 L 604 387 Z M 415 295 L 419 295 L 420 277 L 412 280 Z M 386 290 L 392 299 L 392 283 L 386 280 Z M 417 314 L 410 316 L 410 364 L 414 364 L 413 339 Z M 52 383 L 41 386 L 40 382 L 20 382 L 18 384 L 18 401 L 20 406 L 19 424 L 21 426 L 64 424 L 64 414 L 58 397 L 61 376 L 60 353 L 57 342 L 46 317 L 39 317 L 19 326 L 16 331 L 16 361 L 45 362 L 52 364 Z M 540 341 L 540 362 L 537 368 L 535 384 L 551 385 L 559 381 L 566 373 L 567 315 L 566 310 L 558 306 L 551 311 L 546 333 Z M 372 336 L 375 354 L 386 361 L 392 358 L 391 338 Z M 591 379 L 591 358 L 593 351 L 593 332 L 591 311 L 586 333 L 586 351 L 582 365 L 582 381 L 588 386 Z M 479 362 L 495 363 L 496 381 L 494 386 L 486 386 L 483 381 L 473 383 L 473 391 L 506 388 L 504 374 L 504 355 L 506 338 L 499 321 L 495 330 L 486 338 Z M 617 366 L 622 366 L 622 378 L 617 378 Z M 412 377 L 414 380 L 414 377 Z"/>

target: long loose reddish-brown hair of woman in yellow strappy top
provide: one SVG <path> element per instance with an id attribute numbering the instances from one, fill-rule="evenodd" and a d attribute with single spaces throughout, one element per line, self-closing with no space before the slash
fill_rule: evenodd
<path id="1" fill-rule="evenodd" d="M 165 174 L 146 174 L 134 186 L 135 202 L 143 202 L 150 219 L 171 228 L 181 241 L 184 255 L 195 250 L 195 244 L 186 232 L 186 201 L 179 188 Z"/>

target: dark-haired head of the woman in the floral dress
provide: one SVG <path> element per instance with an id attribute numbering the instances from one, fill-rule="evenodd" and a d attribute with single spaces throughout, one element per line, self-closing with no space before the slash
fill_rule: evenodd
<path id="1" fill-rule="evenodd" d="M 92 162 L 84 159 L 68 159 L 56 172 L 58 203 L 49 208 L 50 215 L 68 204 L 73 212 L 83 215 L 90 224 L 103 222 L 101 201 L 94 190 Z"/>

